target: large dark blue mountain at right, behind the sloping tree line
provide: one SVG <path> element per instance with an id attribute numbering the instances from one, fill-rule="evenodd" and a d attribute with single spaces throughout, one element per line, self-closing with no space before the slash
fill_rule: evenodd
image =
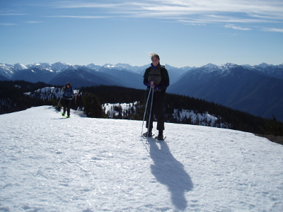
<path id="1" fill-rule="evenodd" d="M 283 64 L 208 64 L 184 73 L 168 92 L 283 121 Z"/>

